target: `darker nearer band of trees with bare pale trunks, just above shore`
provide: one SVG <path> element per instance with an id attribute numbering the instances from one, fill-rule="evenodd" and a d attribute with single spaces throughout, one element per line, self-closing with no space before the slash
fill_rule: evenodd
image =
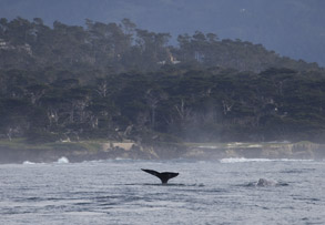
<path id="1" fill-rule="evenodd" d="M 268 69 L 169 70 L 93 76 L 1 71 L 3 139 L 324 140 L 325 76 Z M 67 73 L 64 73 L 68 75 Z M 90 73 L 91 75 L 92 73 Z"/>

